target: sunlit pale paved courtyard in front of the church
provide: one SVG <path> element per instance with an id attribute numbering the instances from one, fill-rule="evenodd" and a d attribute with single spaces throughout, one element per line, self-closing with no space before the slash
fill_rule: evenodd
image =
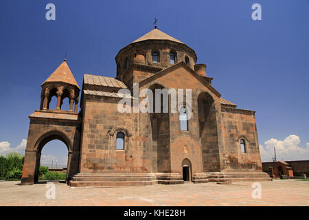
<path id="1" fill-rule="evenodd" d="M 0 181 L 0 206 L 309 206 L 309 181 L 262 181 L 262 198 L 253 199 L 252 182 L 183 184 L 123 188 L 70 188 L 55 184 L 19 186 Z"/>

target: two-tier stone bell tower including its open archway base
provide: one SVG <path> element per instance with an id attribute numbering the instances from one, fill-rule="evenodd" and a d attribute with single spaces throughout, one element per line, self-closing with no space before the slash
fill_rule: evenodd
<path id="1" fill-rule="evenodd" d="M 67 182 L 78 173 L 80 158 L 81 118 L 78 113 L 80 87 L 71 73 L 67 61 L 60 66 L 41 85 L 40 109 L 34 111 L 30 126 L 23 163 L 21 184 L 34 184 L 38 181 L 41 152 L 51 140 L 60 140 L 67 146 Z M 49 108 L 52 97 L 56 96 L 56 108 Z M 62 110 L 62 102 L 69 98 L 69 110 Z M 75 106 L 73 107 L 73 104 Z"/>

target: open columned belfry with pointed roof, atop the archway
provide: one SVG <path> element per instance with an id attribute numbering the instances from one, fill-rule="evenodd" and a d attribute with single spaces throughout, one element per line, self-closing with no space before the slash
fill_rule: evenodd
<path id="1" fill-rule="evenodd" d="M 52 73 L 52 75 L 45 80 L 41 87 L 42 92 L 40 110 L 49 110 L 49 103 L 52 100 L 52 97 L 56 96 L 56 110 L 63 111 L 61 110 L 63 100 L 65 98 L 69 98 L 69 112 L 77 113 L 80 87 L 78 87 L 78 84 L 76 83 L 76 80 L 67 65 L 66 59 Z M 75 104 L 74 108 L 73 104 Z"/>

